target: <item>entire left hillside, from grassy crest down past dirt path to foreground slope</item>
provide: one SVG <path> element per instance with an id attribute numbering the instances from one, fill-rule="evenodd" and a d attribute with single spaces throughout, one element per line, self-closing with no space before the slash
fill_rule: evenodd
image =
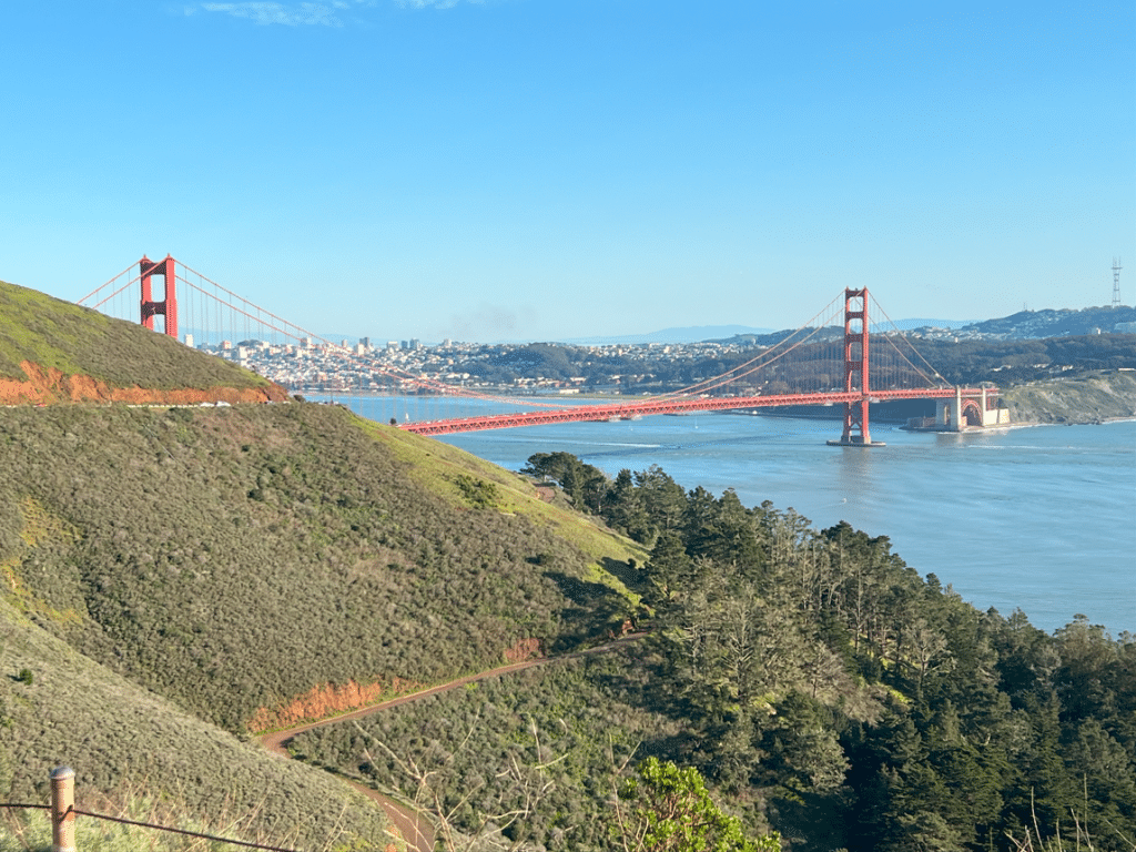
<path id="1" fill-rule="evenodd" d="M 0 285 L 0 375 L 24 403 L 0 409 L 8 801 L 66 762 L 89 800 L 383 849 L 374 803 L 249 735 L 605 636 L 632 607 L 616 574 L 642 549 L 521 477 L 139 326 Z M 236 404 L 154 404 L 194 394 Z"/>

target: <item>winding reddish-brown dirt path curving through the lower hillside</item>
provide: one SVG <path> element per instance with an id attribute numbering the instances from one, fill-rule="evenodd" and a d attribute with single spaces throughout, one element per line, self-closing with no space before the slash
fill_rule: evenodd
<path id="1" fill-rule="evenodd" d="M 525 669 L 535 668 L 536 666 L 546 666 L 550 662 L 561 662 L 563 660 L 574 660 L 579 657 L 585 657 L 587 654 L 604 653 L 607 651 L 612 651 L 621 645 L 628 644 L 629 642 L 635 642 L 644 636 L 643 633 L 629 633 L 626 636 L 608 642 L 603 645 L 596 645 L 594 648 L 587 648 L 583 651 L 574 651 L 570 654 L 565 654 L 562 657 L 535 657 L 531 660 L 524 660 L 521 662 L 513 662 L 508 666 L 499 666 L 495 669 L 488 669 L 486 671 L 478 671 L 475 675 L 466 675 L 465 677 L 459 677 L 454 680 L 448 680 L 444 684 L 438 684 L 437 686 L 431 686 L 426 690 L 419 690 L 418 692 L 411 692 L 406 695 L 400 695 L 396 699 L 387 699 L 386 701 L 381 701 L 377 704 L 369 704 L 368 707 L 360 708 L 358 710 L 352 710 L 351 712 L 341 713 L 340 716 L 333 716 L 327 719 L 320 719 L 318 721 L 309 721 L 303 725 L 296 725 L 295 727 L 287 728 L 285 730 L 274 730 L 269 734 L 258 737 L 260 744 L 264 745 L 268 751 L 274 754 L 279 754 L 283 758 L 291 759 L 287 751 L 287 743 L 296 734 L 302 734 L 306 730 L 312 730 L 314 728 L 321 728 L 325 725 L 335 725 L 341 721 L 350 721 L 352 719 L 361 719 L 366 716 L 373 713 L 382 712 L 383 710 L 390 710 L 392 707 L 398 707 L 399 704 L 407 704 L 411 701 L 419 701 L 421 699 L 428 698 L 431 695 L 437 695 L 441 692 L 448 692 L 450 690 L 456 690 L 459 686 L 465 686 L 466 684 L 471 684 L 477 680 L 484 680 L 490 677 L 496 677 L 498 675 L 511 675 L 516 671 L 523 671 Z M 417 850 L 417 852 L 433 852 L 434 849 L 434 828 L 431 826 L 429 821 L 426 819 L 425 815 L 420 811 L 416 811 L 408 805 L 396 802 L 390 796 L 385 796 L 377 790 L 367 787 L 362 784 L 358 784 L 349 778 L 343 778 L 349 785 L 354 790 L 359 791 L 362 795 L 378 802 L 383 810 L 386 811 L 386 816 L 394 824 L 394 827 L 402 835 L 403 840 L 407 842 L 409 849 Z"/>

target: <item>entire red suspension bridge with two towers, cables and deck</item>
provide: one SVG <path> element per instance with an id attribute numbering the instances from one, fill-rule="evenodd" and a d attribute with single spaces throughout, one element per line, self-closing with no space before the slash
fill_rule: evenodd
<path id="1" fill-rule="evenodd" d="M 154 290 L 156 276 L 164 282 L 160 299 Z M 844 290 L 796 331 L 783 335 L 774 345 L 755 348 L 740 364 L 716 375 L 696 381 L 692 377 L 690 384 L 675 391 L 591 404 L 491 393 L 446 381 L 441 374 L 386 362 L 362 346 L 324 340 L 170 256 L 159 261 L 143 256 L 78 303 L 140 321 L 191 346 L 200 342 L 202 348 L 212 348 L 239 362 L 249 349 L 296 358 L 317 351 L 323 358 L 350 368 L 357 377 L 353 389 L 335 382 L 339 393 L 385 392 L 459 403 L 457 416 L 452 411 L 442 411 L 440 416 L 434 407 L 427 418 L 411 420 L 407 415 L 403 423 L 392 418 L 399 428 L 423 435 L 654 415 L 838 404 L 843 406 L 843 429 L 841 438 L 829 443 L 872 446 L 876 442 L 870 435 L 869 406 L 920 399 L 939 401 L 936 423 L 943 429 L 1002 421 L 997 389 L 949 385 L 887 318 L 867 287 Z M 872 325 L 869 315 L 885 317 L 886 324 Z M 179 329 L 187 331 L 179 336 Z M 234 345 L 237 337 L 241 343 Z M 266 377 L 281 382 L 281 375 Z M 526 410 L 462 416 L 460 402 L 469 400 Z"/>

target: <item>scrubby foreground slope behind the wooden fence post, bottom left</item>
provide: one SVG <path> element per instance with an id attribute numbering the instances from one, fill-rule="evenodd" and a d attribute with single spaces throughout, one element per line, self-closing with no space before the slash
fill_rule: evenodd
<path id="1" fill-rule="evenodd" d="M 45 802 L 50 770 L 66 763 L 76 770 L 82 809 L 117 813 L 120 802 L 144 799 L 147 818 L 166 825 L 198 815 L 228 837 L 309 849 L 349 849 L 361 837 L 384 847 L 379 808 L 326 772 L 178 710 L 7 603 L 0 636 L 6 801 Z"/>

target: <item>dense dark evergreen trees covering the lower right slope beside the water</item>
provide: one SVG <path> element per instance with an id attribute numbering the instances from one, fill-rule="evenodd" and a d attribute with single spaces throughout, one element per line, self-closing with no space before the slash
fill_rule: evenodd
<path id="1" fill-rule="evenodd" d="M 657 467 L 538 453 L 526 473 L 651 549 L 638 591 L 685 719 L 674 757 L 760 792 L 804 847 L 1009 849 L 1027 829 L 1136 849 L 1136 640 L 980 612 L 845 523 L 822 531 Z M 660 698 L 666 695 L 667 698 Z"/>

